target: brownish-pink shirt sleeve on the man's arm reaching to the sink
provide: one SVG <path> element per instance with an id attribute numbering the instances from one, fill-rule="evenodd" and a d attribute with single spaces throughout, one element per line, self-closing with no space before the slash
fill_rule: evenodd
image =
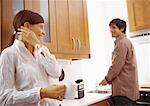
<path id="1" fill-rule="evenodd" d="M 112 56 L 112 65 L 110 66 L 105 77 L 108 83 L 111 83 L 112 80 L 114 80 L 121 72 L 126 61 L 126 55 L 127 46 L 124 43 L 120 43 L 114 50 L 114 54 Z"/>

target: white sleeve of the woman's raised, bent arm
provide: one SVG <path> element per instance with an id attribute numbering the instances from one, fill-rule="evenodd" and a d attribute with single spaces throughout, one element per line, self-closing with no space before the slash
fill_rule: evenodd
<path id="1" fill-rule="evenodd" d="M 61 67 L 54 55 L 52 55 L 45 46 L 35 46 L 34 56 L 36 61 L 42 65 L 46 73 L 52 78 L 59 78 L 61 75 Z"/>

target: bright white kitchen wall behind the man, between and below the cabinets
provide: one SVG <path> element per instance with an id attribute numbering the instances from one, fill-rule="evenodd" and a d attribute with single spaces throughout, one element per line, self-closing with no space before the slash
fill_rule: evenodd
<path id="1" fill-rule="evenodd" d="M 109 31 L 109 22 L 113 18 L 127 21 L 126 0 L 87 0 L 91 59 L 78 61 L 59 60 L 64 67 L 66 78 L 63 82 L 83 78 L 85 89 L 93 89 L 106 75 L 111 65 L 111 53 L 114 43 Z M 136 33 L 134 33 L 136 34 Z M 132 35 L 127 27 L 128 37 Z M 134 43 L 134 42 L 133 42 Z M 137 61 L 139 83 L 150 82 L 150 45 L 134 43 Z"/>

